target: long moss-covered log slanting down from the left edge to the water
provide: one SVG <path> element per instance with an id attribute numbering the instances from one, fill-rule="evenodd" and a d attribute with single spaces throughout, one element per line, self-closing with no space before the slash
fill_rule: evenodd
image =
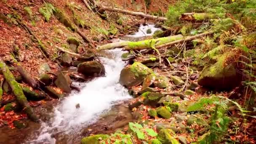
<path id="1" fill-rule="evenodd" d="M 26 114 L 29 116 L 29 118 L 32 121 L 37 122 L 38 117 L 33 111 L 32 107 L 30 107 L 27 98 L 25 97 L 21 85 L 16 82 L 15 78 L 13 77 L 13 74 L 6 66 L 3 59 L 0 57 L 0 68 L 2 70 L 3 76 L 5 80 L 8 82 L 8 84 L 11 86 L 11 89 L 14 93 L 14 96 L 16 97 L 17 102 L 21 105 L 21 107 L 25 110 Z"/>

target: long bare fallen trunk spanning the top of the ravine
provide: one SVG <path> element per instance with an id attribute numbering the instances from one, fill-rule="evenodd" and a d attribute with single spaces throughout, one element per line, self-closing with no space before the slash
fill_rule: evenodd
<path id="1" fill-rule="evenodd" d="M 109 6 L 103 6 L 103 5 L 95 2 L 95 0 L 93 0 L 93 3 L 96 6 L 98 6 L 100 9 L 103 9 L 105 11 L 115 11 L 117 13 L 125 13 L 125 14 L 132 15 L 132 16 L 140 16 L 143 18 L 153 19 L 153 20 L 157 20 L 157 21 L 166 21 L 167 20 L 167 18 L 161 17 L 161 16 L 152 16 L 152 15 L 141 13 L 141 12 L 128 11 L 128 10 L 124 10 L 124 9 L 120 9 L 120 8 L 112 8 Z"/>

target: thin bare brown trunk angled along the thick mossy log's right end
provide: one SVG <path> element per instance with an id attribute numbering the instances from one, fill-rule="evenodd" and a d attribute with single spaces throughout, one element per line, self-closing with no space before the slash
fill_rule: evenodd
<path id="1" fill-rule="evenodd" d="M 170 43 L 165 43 L 165 44 L 162 44 L 162 45 L 157 45 L 155 48 L 159 49 L 159 48 L 163 48 L 163 47 L 170 47 L 170 46 L 178 44 L 178 43 L 191 41 L 191 40 L 194 40 L 198 37 L 203 37 L 205 35 L 211 35 L 211 34 L 213 34 L 213 31 L 205 32 L 205 33 L 202 33 L 202 34 L 199 34 L 199 35 L 195 35 L 195 36 L 192 36 L 192 37 L 187 37 L 187 38 L 182 39 L 182 40 L 176 40 L 176 41 L 173 41 L 173 42 L 170 42 Z"/>

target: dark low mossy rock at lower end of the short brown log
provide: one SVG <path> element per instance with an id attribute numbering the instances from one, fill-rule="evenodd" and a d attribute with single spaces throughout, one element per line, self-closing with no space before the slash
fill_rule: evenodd
<path id="1" fill-rule="evenodd" d="M 22 88 L 24 95 L 30 100 L 41 100 L 46 98 L 46 94 L 42 91 L 31 91 L 29 88 Z"/>

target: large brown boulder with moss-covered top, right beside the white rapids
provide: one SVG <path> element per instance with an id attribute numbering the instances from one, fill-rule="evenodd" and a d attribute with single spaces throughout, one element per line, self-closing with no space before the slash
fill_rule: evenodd
<path id="1" fill-rule="evenodd" d="M 122 69 L 120 73 L 120 84 L 126 87 L 132 87 L 141 84 L 145 77 L 152 74 L 153 70 L 144 64 L 135 62 Z"/>

